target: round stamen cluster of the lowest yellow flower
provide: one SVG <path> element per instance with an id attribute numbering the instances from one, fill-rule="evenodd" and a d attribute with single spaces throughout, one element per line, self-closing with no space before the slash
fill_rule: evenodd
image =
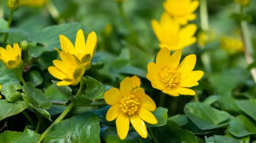
<path id="1" fill-rule="evenodd" d="M 123 113 L 133 115 L 138 110 L 138 99 L 134 95 L 127 95 L 121 100 L 121 110 Z"/>

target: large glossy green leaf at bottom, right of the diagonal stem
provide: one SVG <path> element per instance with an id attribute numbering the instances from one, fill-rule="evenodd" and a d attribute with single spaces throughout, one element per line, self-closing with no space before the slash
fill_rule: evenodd
<path id="1" fill-rule="evenodd" d="M 74 115 L 54 125 L 43 143 L 100 143 L 99 118 L 93 113 Z"/>

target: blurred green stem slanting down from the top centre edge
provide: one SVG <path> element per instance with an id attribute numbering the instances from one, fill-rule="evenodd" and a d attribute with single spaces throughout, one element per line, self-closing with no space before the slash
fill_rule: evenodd
<path id="1" fill-rule="evenodd" d="M 127 16 L 124 13 L 123 10 L 123 3 L 122 2 L 117 2 L 118 4 L 118 10 L 119 10 L 119 14 L 121 15 L 121 17 L 123 18 L 125 25 L 127 26 L 127 28 L 130 30 L 130 33 L 134 39 L 134 41 L 136 42 L 136 45 L 138 46 L 138 48 L 140 48 L 141 50 L 143 50 L 144 52 L 146 51 L 146 48 L 143 47 L 140 42 L 138 41 L 138 36 L 136 34 L 136 32 L 133 30 L 133 26 L 131 25 L 129 19 L 127 18 Z"/>

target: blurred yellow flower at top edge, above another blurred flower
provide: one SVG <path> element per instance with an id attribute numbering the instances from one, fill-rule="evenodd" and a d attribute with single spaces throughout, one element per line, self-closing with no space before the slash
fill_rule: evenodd
<path id="1" fill-rule="evenodd" d="M 197 18 L 193 12 L 198 5 L 198 0 L 166 0 L 164 10 L 181 25 L 186 25 L 188 21 Z"/>

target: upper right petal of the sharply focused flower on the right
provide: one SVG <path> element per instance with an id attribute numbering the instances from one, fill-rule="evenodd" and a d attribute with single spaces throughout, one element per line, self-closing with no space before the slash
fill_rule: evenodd
<path id="1" fill-rule="evenodd" d="M 182 73 L 189 73 L 191 72 L 196 63 L 197 57 L 195 54 L 188 55 L 184 58 L 182 63 L 179 65 L 178 70 Z"/>

